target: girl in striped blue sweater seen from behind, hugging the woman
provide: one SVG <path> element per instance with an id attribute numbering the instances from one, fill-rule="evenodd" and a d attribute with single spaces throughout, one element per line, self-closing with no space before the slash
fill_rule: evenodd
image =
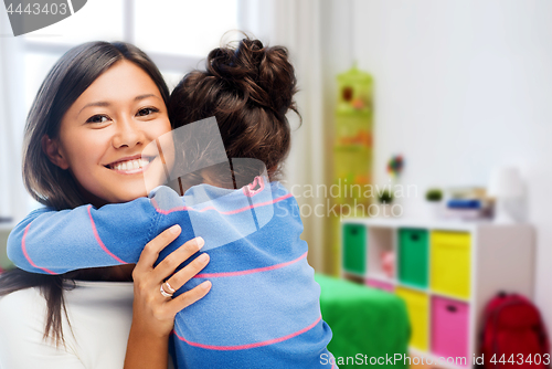
<path id="1" fill-rule="evenodd" d="M 289 150 L 285 114 L 296 110 L 295 87 L 294 68 L 283 48 L 243 40 L 236 49 L 215 49 L 206 72 L 194 71 L 176 87 L 169 112 L 176 126 L 216 117 L 232 158 L 232 176 L 221 178 L 215 167 L 195 171 L 190 181 L 203 184 L 182 198 L 161 187 L 150 194 L 151 201 L 39 210 L 10 235 L 10 259 L 36 273 L 131 263 L 140 250 L 129 247 L 128 240 L 144 244 L 160 229 L 178 223 L 182 234 L 160 259 L 182 241 L 201 235 L 211 262 L 174 296 L 205 278 L 213 287 L 177 315 L 172 337 L 177 367 L 321 367 L 331 331 L 321 320 L 319 286 L 306 260 L 307 244 L 299 239 L 297 203 L 283 186 L 269 182 Z M 233 158 L 261 160 L 267 176 L 251 161 Z M 108 166 L 131 171 L 130 161 Z M 250 184 L 235 189 L 236 183 Z M 117 221 L 121 224 L 115 226 Z M 194 233 L 210 224 L 210 234 Z M 62 241 L 55 251 L 43 251 L 41 244 L 53 234 L 62 235 Z M 172 288 L 173 278 L 160 294 L 170 296 L 178 289 Z"/>

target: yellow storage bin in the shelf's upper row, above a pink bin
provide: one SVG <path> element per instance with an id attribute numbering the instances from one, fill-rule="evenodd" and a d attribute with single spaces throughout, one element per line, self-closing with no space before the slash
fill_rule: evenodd
<path id="1" fill-rule="evenodd" d="M 431 238 L 431 287 L 435 292 L 469 298 L 471 240 L 466 232 L 435 231 Z"/>

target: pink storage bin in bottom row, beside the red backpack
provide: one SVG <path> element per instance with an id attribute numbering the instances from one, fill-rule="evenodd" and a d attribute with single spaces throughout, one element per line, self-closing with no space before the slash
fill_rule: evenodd
<path id="1" fill-rule="evenodd" d="M 469 365 L 469 307 L 454 299 L 432 298 L 432 354 L 437 357 L 464 357 Z"/>

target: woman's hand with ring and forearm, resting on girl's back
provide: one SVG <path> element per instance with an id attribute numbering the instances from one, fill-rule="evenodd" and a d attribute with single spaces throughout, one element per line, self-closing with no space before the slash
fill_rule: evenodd
<path id="1" fill-rule="evenodd" d="M 184 307 L 205 296 L 211 288 L 211 282 L 205 281 L 174 298 L 164 297 L 161 294 L 161 285 L 167 278 L 167 283 L 172 288 L 178 289 L 209 263 L 209 255 L 202 254 L 174 273 L 180 264 L 203 246 L 203 239 L 195 238 L 173 251 L 153 267 L 161 250 L 174 241 L 180 231 L 179 225 L 173 225 L 151 240 L 144 247 L 140 260 L 132 272 L 135 297 L 132 326 L 130 327 L 125 358 L 126 369 L 166 369 L 169 335 L 174 326 L 174 316 Z"/>

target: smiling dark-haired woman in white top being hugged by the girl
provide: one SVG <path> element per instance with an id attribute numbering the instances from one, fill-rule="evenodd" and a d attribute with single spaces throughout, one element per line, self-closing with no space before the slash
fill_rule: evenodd
<path id="1" fill-rule="evenodd" d="M 46 76 L 29 114 L 23 155 L 28 190 L 51 211 L 62 212 L 146 196 L 141 173 L 123 176 L 106 165 L 139 155 L 171 130 L 168 99 L 161 74 L 137 48 L 94 42 L 72 49 Z M 161 168 L 152 161 L 148 171 Z M 50 234 L 40 244 L 46 253 L 64 239 L 63 233 L 38 231 Z M 2 273 L 0 367 L 167 368 L 174 315 L 209 291 L 206 283 L 208 288 L 172 301 L 159 295 L 163 280 L 174 273 L 171 265 L 181 264 L 201 244 L 188 242 L 153 267 L 176 231 L 148 242 L 135 268 L 129 264 L 64 275 Z M 125 241 L 129 247 L 145 245 Z M 203 266 L 193 262 L 173 274 L 173 285 L 180 287 L 176 282 L 183 284 Z M 124 282 L 132 280 L 134 285 Z"/>

